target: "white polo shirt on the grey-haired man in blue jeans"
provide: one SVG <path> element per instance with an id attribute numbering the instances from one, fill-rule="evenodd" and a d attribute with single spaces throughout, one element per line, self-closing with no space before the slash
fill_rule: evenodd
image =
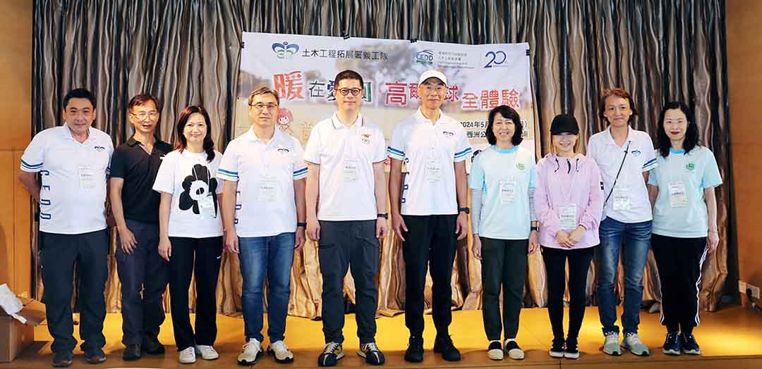
<path id="1" fill-rule="evenodd" d="M 249 129 L 228 144 L 217 177 L 238 182 L 235 233 L 239 237 L 296 231 L 293 181 L 307 177 L 299 140 L 275 129 L 265 143 Z"/>

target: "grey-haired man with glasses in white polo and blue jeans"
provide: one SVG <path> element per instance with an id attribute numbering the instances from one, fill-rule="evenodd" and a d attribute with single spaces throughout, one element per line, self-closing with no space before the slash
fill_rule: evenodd
<path id="1" fill-rule="evenodd" d="M 243 277 L 246 344 L 238 361 L 252 365 L 262 355 L 262 289 L 267 275 L 267 352 L 288 363 L 283 342 L 293 253 L 304 246 L 304 178 L 299 140 L 275 128 L 280 99 L 259 87 L 248 97 L 251 129 L 230 142 L 219 164 L 223 185 L 225 249 L 239 254 Z"/>

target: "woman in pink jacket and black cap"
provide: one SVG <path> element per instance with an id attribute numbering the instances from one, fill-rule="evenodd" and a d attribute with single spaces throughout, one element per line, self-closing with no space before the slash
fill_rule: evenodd
<path id="1" fill-rule="evenodd" d="M 584 317 L 585 285 L 598 240 L 604 191 L 597 164 L 577 151 L 574 116 L 555 116 L 551 154 L 537 164 L 534 208 L 539 244 L 548 275 L 548 315 L 553 329 L 550 356 L 578 358 L 577 337 Z M 564 339 L 566 261 L 569 264 L 569 329 Z"/>

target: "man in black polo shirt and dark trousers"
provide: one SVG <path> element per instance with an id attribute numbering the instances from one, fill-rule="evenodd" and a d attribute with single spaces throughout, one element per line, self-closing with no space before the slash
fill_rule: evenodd
<path id="1" fill-rule="evenodd" d="M 168 263 L 158 255 L 159 194 L 152 186 L 162 157 L 172 148 L 154 135 L 159 116 L 155 97 L 136 95 L 127 113 L 135 133 L 114 151 L 109 184 L 119 231 L 116 256 L 122 282 L 123 359 L 133 361 L 141 352 L 164 353 L 157 337 L 164 322 L 162 294 L 167 288 Z"/>

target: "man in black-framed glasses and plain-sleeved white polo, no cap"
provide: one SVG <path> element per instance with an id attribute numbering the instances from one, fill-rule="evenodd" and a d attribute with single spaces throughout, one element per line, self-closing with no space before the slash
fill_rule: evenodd
<path id="1" fill-rule="evenodd" d="M 360 350 L 368 364 L 384 363 L 376 345 L 379 238 L 386 237 L 385 139 L 379 126 L 360 114 L 363 78 L 347 70 L 335 78 L 337 111 L 318 122 L 305 149 L 307 236 L 319 241 L 323 277 L 322 367 L 344 358 L 344 275 L 351 266 Z"/>

